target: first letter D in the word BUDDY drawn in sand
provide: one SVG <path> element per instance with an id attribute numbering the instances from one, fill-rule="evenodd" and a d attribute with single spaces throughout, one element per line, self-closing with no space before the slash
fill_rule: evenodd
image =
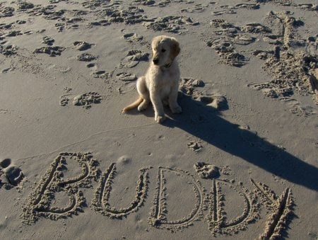
<path id="1" fill-rule="evenodd" d="M 167 206 L 167 188 L 166 188 L 166 179 L 164 173 L 172 173 L 180 178 L 187 179 L 187 183 L 192 186 L 194 191 L 195 203 L 192 211 L 183 217 L 182 219 L 169 221 L 167 219 L 167 213 L 169 211 Z M 182 229 L 192 225 L 194 221 L 202 217 L 202 210 L 204 208 L 204 190 L 202 190 L 201 183 L 196 181 L 194 176 L 189 172 L 184 171 L 178 168 L 165 168 L 159 167 L 158 171 L 158 187 L 156 188 L 156 193 L 153 201 L 153 208 L 151 209 L 151 215 L 148 218 L 149 224 L 153 227 L 160 229 L 169 229 L 171 231 L 176 231 L 177 229 Z"/>

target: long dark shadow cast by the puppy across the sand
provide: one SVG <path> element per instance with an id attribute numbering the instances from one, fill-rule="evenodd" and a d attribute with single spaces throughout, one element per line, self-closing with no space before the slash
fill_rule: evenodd
<path id="1" fill-rule="evenodd" d="M 228 122 L 214 108 L 194 101 L 191 96 L 182 94 L 179 104 L 182 114 L 172 115 L 166 109 L 170 119 L 163 125 L 184 130 L 287 181 L 318 190 L 318 168 L 315 166 L 267 142 L 255 132 Z M 152 109 L 148 108 L 144 113 L 153 116 Z"/>

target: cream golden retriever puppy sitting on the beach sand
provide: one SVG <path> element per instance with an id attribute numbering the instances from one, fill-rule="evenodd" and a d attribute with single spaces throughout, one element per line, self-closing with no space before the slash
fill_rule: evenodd
<path id="1" fill-rule="evenodd" d="M 153 59 L 145 76 L 136 83 L 139 98 L 122 110 L 123 113 L 138 107 L 145 110 L 149 103 L 155 110 L 155 121 L 165 120 L 163 101 L 169 104 L 172 113 L 181 113 L 182 108 L 177 103 L 180 72 L 175 57 L 179 55 L 179 42 L 175 38 L 160 35 L 153 38 L 151 44 Z M 167 101 L 166 101 L 167 100 Z"/>

